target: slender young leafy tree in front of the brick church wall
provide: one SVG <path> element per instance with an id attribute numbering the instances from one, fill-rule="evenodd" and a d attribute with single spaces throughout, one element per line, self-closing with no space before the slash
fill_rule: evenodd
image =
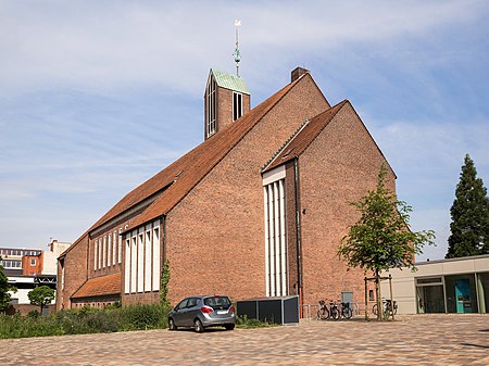
<path id="1" fill-rule="evenodd" d="M 377 178 L 377 188 L 358 202 L 351 202 L 360 213 L 360 219 L 349 228 L 338 248 L 340 258 L 349 267 L 360 267 L 375 276 L 377 316 L 381 315 L 380 273 L 389 268 L 412 267 L 415 254 L 422 253 L 425 244 L 434 244 L 432 230 L 413 232 L 409 228 L 412 211 L 396 193 L 385 187 L 387 169 L 383 164 Z"/>

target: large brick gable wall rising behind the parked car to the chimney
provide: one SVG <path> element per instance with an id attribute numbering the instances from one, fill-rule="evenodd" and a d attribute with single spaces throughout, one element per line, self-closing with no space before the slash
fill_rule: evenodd
<path id="1" fill-rule="evenodd" d="M 265 294 L 260 169 L 305 118 L 327 108 L 312 78 L 303 77 L 168 214 L 173 303 L 196 293 Z"/>

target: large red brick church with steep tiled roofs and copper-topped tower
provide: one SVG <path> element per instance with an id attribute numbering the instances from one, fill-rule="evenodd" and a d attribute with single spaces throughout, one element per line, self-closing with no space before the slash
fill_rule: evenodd
<path id="1" fill-rule="evenodd" d="M 396 175 L 352 104 L 330 105 L 309 71 L 251 109 L 244 80 L 210 71 L 204 141 L 136 187 L 59 258 L 58 308 L 299 294 L 302 304 L 352 293 L 364 273 L 337 255 L 356 222 L 349 204 Z"/>

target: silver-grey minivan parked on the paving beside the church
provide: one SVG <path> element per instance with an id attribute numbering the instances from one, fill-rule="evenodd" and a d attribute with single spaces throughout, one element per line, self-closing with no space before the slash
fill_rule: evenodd
<path id="1" fill-rule="evenodd" d="M 228 296 L 205 295 L 181 300 L 168 313 L 168 329 L 193 328 L 202 332 L 209 327 L 235 329 L 235 306 Z"/>

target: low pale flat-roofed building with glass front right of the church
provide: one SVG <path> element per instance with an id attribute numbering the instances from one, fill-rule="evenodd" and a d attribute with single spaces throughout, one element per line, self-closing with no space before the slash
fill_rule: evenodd
<path id="1" fill-rule="evenodd" d="M 390 269 L 400 314 L 488 313 L 489 255 L 416 263 L 417 270 Z M 389 296 L 389 283 L 381 286 Z"/>

